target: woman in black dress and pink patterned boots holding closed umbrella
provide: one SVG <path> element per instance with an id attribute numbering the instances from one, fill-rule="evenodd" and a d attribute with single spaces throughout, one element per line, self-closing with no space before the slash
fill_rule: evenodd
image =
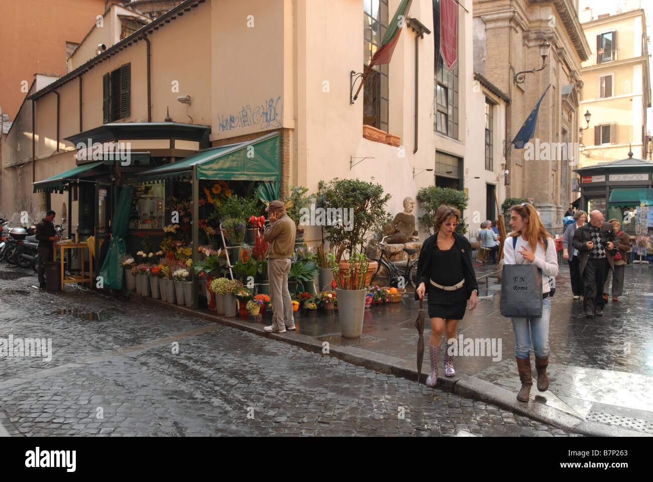
<path id="1" fill-rule="evenodd" d="M 458 321 L 465 315 L 467 300 L 470 310 L 476 308 L 478 285 L 471 264 L 471 244 L 455 233 L 460 211 L 440 206 L 436 212 L 436 234 L 424 241 L 417 262 L 417 290 L 422 299 L 428 293 L 428 317 L 431 319 L 431 374 L 426 385 L 438 383 L 438 362 L 442 333 L 447 333 L 445 375 L 453 377 L 453 355 L 456 349 Z M 428 291 L 427 291 L 428 290 Z"/>

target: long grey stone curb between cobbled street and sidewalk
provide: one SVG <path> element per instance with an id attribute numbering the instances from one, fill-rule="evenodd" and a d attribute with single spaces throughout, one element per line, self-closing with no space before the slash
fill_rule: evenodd
<path id="1" fill-rule="evenodd" d="M 200 317 L 208 321 L 215 321 L 226 325 L 228 327 L 238 328 L 251 333 L 286 342 L 291 345 L 298 346 L 306 351 L 313 351 L 314 353 L 323 353 L 323 345 L 315 340 L 315 338 L 299 334 L 296 332 L 285 333 L 268 333 L 263 330 L 261 325 L 253 324 L 238 318 L 223 318 L 219 315 L 214 315 L 211 312 L 196 312 L 185 306 L 170 304 L 165 301 L 156 300 L 150 297 L 141 297 L 135 295 L 136 302 L 145 302 L 156 306 L 165 306 L 176 312 L 183 313 L 187 316 Z M 406 378 L 411 381 L 417 381 L 417 370 L 406 368 L 402 366 L 405 362 L 404 359 L 391 357 L 389 355 L 382 355 L 357 347 L 331 345 L 328 353 L 323 353 L 336 357 L 342 361 L 363 366 L 375 372 L 380 372 L 388 375 L 394 375 L 401 378 Z M 426 373 L 422 373 L 419 379 L 421 383 L 426 382 Z M 645 432 L 637 432 L 628 428 L 618 426 L 609 426 L 603 423 L 582 421 L 581 419 L 564 413 L 545 404 L 530 401 L 528 404 L 518 402 L 514 393 L 509 392 L 501 387 L 490 383 L 489 381 L 482 380 L 475 376 L 462 376 L 462 378 L 444 378 L 438 377 L 438 389 L 456 394 L 465 398 L 472 398 L 492 405 L 496 405 L 505 410 L 524 415 L 530 419 L 547 423 L 552 426 L 585 436 L 596 437 L 632 437 L 632 436 L 653 436 L 653 434 L 646 434 Z"/>

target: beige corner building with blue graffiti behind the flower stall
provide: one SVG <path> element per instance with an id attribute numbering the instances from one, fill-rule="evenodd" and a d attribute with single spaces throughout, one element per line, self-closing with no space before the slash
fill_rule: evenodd
<path id="1" fill-rule="evenodd" d="M 494 193 L 499 204 L 505 199 L 508 97 L 475 76 L 471 0 L 458 7 L 455 70 L 436 69 L 434 2 L 413 0 L 392 61 L 350 102 L 350 72 L 364 69 L 398 5 L 189 0 L 117 42 L 116 28 L 94 27 L 89 46 L 83 43 L 71 59 L 73 70 L 25 101 L 26 112 L 32 102 L 35 108 L 36 160 L 32 168 L 27 125 L 5 143 L 3 174 L 25 157 L 16 146 L 27 141 L 30 176 L 3 175 L 3 206 L 20 211 L 14 199 L 30 197 L 31 214 L 39 217 L 46 195 L 32 194 L 31 183 L 83 164 L 76 160 L 78 140 L 129 141 L 131 150 L 169 163 L 278 132 L 282 185 L 305 185 L 314 193 L 321 180 L 374 180 L 392 195 L 392 214 L 421 187 L 451 185 L 469 193 L 464 215 L 470 231 L 478 229 L 496 216 Z M 104 25 L 118 25 L 123 10 L 112 7 Z M 101 42 L 113 44 L 93 50 Z M 113 93 L 110 104 L 106 89 Z M 59 196 L 52 197 L 56 210 L 67 201 Z M 306 231 L 308 242 L 319 240 L 319 227 Z"/>

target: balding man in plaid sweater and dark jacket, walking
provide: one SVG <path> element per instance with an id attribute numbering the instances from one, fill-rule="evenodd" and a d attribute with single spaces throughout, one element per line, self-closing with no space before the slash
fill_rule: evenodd
<path id="1" fill-rule="evenodd" d="M 616 234 L 611 223 L 603 222 L 600 211 L 590 212 L 590 222 L 573 235 L 572 246 L 579 251 L 584 299 L 582 308 L 588 318 L 603 316 L 603 283 L 613 265 Z"/>

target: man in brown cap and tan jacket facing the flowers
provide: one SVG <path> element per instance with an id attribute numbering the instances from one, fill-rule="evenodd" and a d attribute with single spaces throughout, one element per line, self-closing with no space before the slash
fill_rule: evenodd
<path id="1" fill-rule="evenodd" d="M 285 214 L 283 202 L 272 201 L 265 210 L 270 213 L 270 224 L 265 227 L 263 239 L 270 243 L 265 256 L 268 258 L 272 325 L 263 329 L 266 332 L 285 333 L 286 329 L 295 330 L 288 274 L 295 250 L 297 227 L 295 221 Z"/>

